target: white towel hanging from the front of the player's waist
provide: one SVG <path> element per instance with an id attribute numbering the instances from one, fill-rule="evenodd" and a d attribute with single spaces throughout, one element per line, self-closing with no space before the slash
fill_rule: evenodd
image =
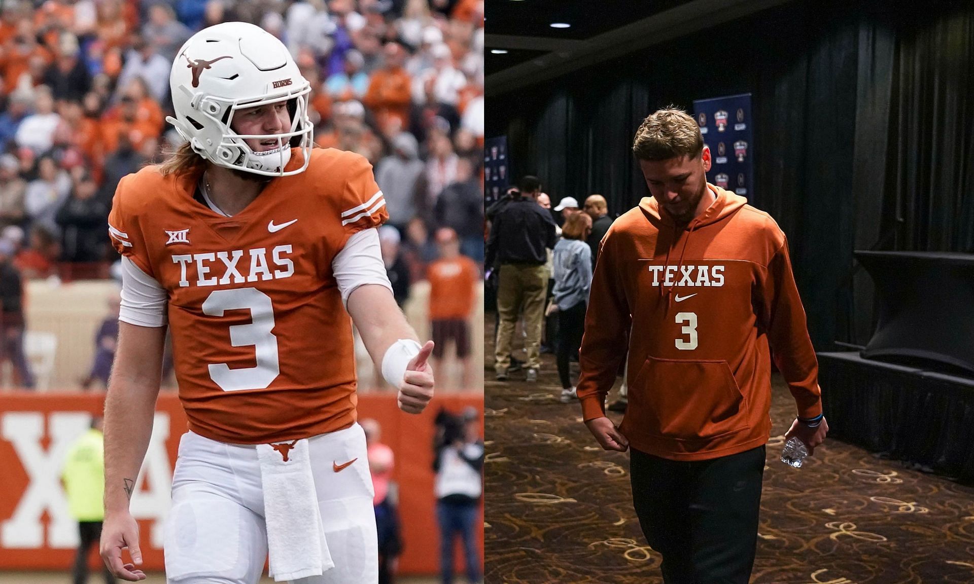
<path id="1" fill-rule="evenodd" d="M 308 440 L 257 445 L 270 575 L 278 582 L 335 566 L 324 540 Z"/>

